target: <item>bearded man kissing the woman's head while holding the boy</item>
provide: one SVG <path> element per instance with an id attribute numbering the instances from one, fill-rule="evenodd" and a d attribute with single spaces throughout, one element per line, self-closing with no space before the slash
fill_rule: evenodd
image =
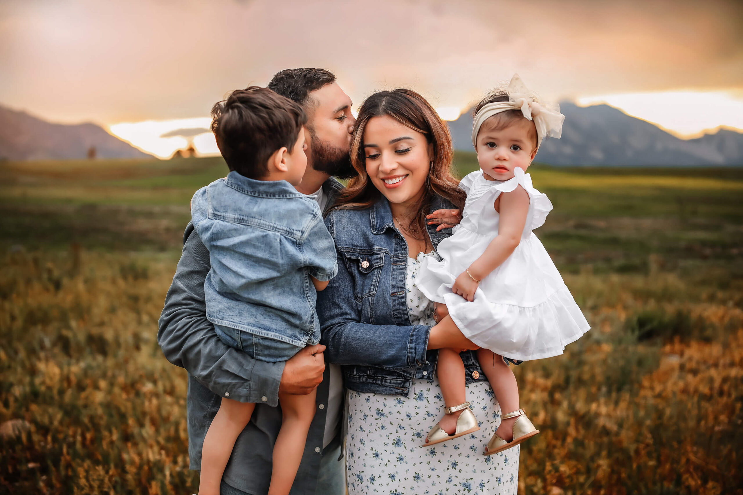
<path id="1" fill-rule="evenodd" d="M 314 197 L 323 213 L 343 187 L 333 176 L 355 174 L 348 160 L 355 123 L 351 99 L 335 79 L 324 69 L 288 69 L 273 76 L 268 85 L 298 102 L 308 114 L 308 167 L 297 189 Z M 266 363 L 223 344 L 206 316 L 204 280 L 209 269 L 209 252 L 189 223 L 183 254 L 160 316 L 158 343 L 172 364 L 189 373 L 186 412 L 191 469 L 201 466 L 204 435 L 221 397 L 255 402 L 250 423 L 238 437 L 224 471 L 221 493 L 267 493 L 273 443 L 282 421 L 276 407 L 279 390 L 303 395 L 317 387 L 317 410 L 291 494 L 345 494 L 340 369 L 325 367 L 322 345 L 306 347 L 285 363 Z"/>

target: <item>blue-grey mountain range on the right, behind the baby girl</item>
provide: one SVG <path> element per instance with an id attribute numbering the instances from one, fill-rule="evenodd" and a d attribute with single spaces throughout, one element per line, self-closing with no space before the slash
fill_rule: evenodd
<path id="1" fill-rule="evenodd" d="M 550 165 L 743 165 L 743 133 L 718 128 L 682 140 L 609 105 L 561 102 L 562 137 L 548 139 L 535 161 Z M 473 151 L 472 109 L 449 123 L 454 148 Z"/>

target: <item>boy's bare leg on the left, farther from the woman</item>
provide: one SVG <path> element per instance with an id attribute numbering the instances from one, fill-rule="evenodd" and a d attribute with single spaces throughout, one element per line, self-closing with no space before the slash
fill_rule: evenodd
<path id="1" fill-rule="evenodd" d="M 222 398 L 217 415 L 204 437 L 198 495 L 219 495 L 219 485 L 235 441 L 244 430 L 256 404 Z"/>

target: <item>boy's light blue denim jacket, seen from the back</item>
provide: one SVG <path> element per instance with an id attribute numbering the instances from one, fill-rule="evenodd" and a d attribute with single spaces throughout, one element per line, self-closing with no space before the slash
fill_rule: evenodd
<path id="1" fill-rule="evenodd" d="M 209 321 L 299 347 L 317 344 L 310 276 L 328 281 L 337 272 L 317 202 L 285 180 L 231 171 L 196 191 L 191 215 L 212 266 L 204 282 Z"/>

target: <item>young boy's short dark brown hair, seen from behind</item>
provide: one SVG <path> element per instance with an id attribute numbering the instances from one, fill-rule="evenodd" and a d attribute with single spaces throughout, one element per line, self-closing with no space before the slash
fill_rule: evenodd
<path id="1" fill-rule="evenodd" d="M 293 151 L 305 123 L 301 106 L 259 86 L 233 91 L 212 108 L 212 132 L 224 161 L 250 179 L 265 177 L 274 151 Z"/>

